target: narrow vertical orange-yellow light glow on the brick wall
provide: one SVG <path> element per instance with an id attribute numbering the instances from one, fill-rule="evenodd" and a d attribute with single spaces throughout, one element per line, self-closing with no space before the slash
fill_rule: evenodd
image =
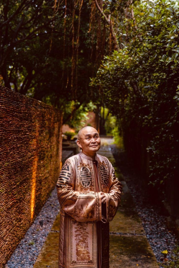
<path id="1" fill-rule="evenodd" d="M 36 189 L 36 174 L 37 174 L 37 156 L 34 159 L 33 170 L 32 170 L 32 192 L 31 192 L 31 220 L 34 217 L 34 207 L 35 207 L 35 189 Z"/>

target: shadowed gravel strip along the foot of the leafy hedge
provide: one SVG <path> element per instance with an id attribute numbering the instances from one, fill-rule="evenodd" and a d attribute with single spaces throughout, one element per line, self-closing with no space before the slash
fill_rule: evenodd
<path id="1" fill-rule="evenodd" d="M 171 260 L 176 259 L 174 253 L 179 241 L 176 235 L 166 225 L 166 216 L 162 215 L 159 205 L 151 203 L 151 196 L 145 191 L 140 178 L 137 177 L 126 161 L 126 155 L 114 144 L 110 146 L 119 169 L 126 178 L 127 186 L 133 196 L 138 214 L 141 218 L 147 239 L 156 256 L 160 268 L 179 268 L 178 262 L 171 266 Z M 142 181 L 141 181 L 142 182 Z M 152 195 L 152 193 L 151 193 Z M 161 252 L 167 250 L 166 260 Z"/>

